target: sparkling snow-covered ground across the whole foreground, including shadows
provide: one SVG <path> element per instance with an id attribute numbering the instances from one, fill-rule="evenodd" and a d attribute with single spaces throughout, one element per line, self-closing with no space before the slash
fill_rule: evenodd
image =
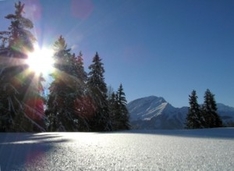
<path id="1" fill-rule="evenodd" d="M 0 171 L 220 171 L 233 157 L 234 128 L 0 134 Z"/>

